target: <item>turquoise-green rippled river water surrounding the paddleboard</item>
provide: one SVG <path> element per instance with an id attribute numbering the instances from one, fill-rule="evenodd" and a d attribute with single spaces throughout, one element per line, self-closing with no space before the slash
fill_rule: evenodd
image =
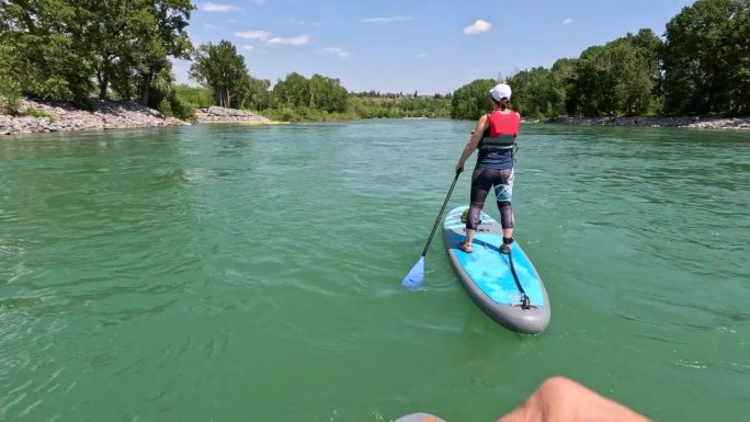
<path id="1" fill-rule="evenodd" d="M 491 421 L 553 375 L 745 418 L 750 134 L 523 126 L 516 237 L 553 306 L 524 337 L 439 237 L 425 289 L 400 286 L 471 127 L 0 139 L 0 420 Z"/>

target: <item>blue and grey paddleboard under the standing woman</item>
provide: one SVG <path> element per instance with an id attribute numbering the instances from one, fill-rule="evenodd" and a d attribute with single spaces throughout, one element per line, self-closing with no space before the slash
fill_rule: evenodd
<path id="1" fill-rule="evenodd" d="M 542 277 L 518 242 L 511 244 L 511 255 L 500 252 L 502 227 L 485 214 L 471 243 L 473 253 L 458 249 L 466 238 L 462 214 L 467 206 L 453 208 L 443 223 L 443 239 L 458 280 L 485 313 L 509 330 L 537 334 L 549 326 L 550 309 Z M 529 307 L 522 306 L 523 295 L 511 271 L 511 260 Z"/>

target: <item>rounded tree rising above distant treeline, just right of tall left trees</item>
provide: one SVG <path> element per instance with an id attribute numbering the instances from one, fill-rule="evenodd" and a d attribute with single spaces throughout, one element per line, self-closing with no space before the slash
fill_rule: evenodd
<path id="1" fill-rule="evenodd" d="M 214 91 L 216 104 L 229 107 L 237 100 L 238 92 L 249 88 L 248 68 L 245 57 L 228 41 L 218 44 L 203 44 L 197 48 L 190 77 Z"/>

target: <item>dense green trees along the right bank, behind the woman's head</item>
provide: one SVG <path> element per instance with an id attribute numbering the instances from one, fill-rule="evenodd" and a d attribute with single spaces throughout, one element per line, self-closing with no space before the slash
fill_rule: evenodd
<path id="1" fill-rule="evenodd" d="M 750 2 L 697 0 L 668 24 L 664 39 L 640 30 L 502 79 L 522 115 L 750 115 Z M 451 116 L 477 118 L 496 80 L 453 95 Z"/>

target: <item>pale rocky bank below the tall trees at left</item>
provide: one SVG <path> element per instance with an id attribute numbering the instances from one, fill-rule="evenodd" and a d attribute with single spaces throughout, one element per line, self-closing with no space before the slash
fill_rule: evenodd
<path id="1" fill-rule="evenodd" d="M 21 100 L 21 115 L 0 114 L 0 136 L 69 130 L 109 130 L 135 127 L 183 126 L 190 123 L 164 117 L 135 104 L 100 101 L 93 112 L 67 103 Z"/>

